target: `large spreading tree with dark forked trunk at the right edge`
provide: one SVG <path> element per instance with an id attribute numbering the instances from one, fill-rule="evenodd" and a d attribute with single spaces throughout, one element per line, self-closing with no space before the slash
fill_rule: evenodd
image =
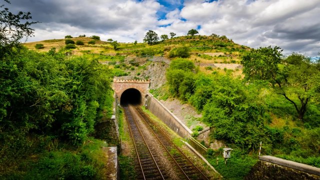
<path id="1" fill-rule="evenodd" d="M 251 50 L 242 56 L 243 73 L 247 80 L 268 81 L 276 93 L 293 104 L 302 120 L 307 103 L 320 95 L 316 91 L 316 78 L 320 74 L 320 69 L 316 68 L 318 62 L 298 53 L 282 59 L 281 51 L 277 46 Z"/>

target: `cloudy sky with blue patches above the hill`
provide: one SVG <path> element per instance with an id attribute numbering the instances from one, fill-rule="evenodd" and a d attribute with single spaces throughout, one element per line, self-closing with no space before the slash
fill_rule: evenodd
<path id="1" fill-rule="evenodd" d="M 277 45 L 315 56 L 320 52 L 320 0 L 11 0 L 10 11 L 30 11 L 40 21 L 28 41 L 65 35 L 142 42 L 158 35 L 226 35 L 259 47 Z"/>

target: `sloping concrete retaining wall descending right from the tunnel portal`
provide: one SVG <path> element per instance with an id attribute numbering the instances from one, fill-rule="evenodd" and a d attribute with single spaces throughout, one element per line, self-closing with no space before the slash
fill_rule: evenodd
<path id="1" fill-rule="evenodd" d="M 173 131 L 181 137 L 188 138 L 192 131 L 185 126 L 180 119 L 178 119 L 169 109 L 167 109 L 160 101 L 153 97 L 152 94 L 147 93 L 146 108 L 149 109 L 155 116 L 161 119 Z"/>

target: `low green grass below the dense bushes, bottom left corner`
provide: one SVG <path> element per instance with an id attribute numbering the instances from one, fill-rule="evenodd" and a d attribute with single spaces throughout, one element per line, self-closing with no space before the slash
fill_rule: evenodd
<path id="1" fill-rule="evenodd" d="M 105 179 L 104 146 L 93 138 L 77 148 L 60 143 L 57 150 L 19 159 L 15 169 L 0 173 L 0 179 Z"/>

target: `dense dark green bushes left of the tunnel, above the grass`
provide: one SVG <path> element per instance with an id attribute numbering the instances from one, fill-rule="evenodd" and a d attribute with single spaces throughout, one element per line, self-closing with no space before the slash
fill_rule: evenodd
<path id="1" fill-rule="evenodd" d="M 1 131 L 35 131 L 81 143 L 110 98 L 109 70 L 97 60 L 63 59 L 53 50 L 16 50 L 0 64 Z"/>

